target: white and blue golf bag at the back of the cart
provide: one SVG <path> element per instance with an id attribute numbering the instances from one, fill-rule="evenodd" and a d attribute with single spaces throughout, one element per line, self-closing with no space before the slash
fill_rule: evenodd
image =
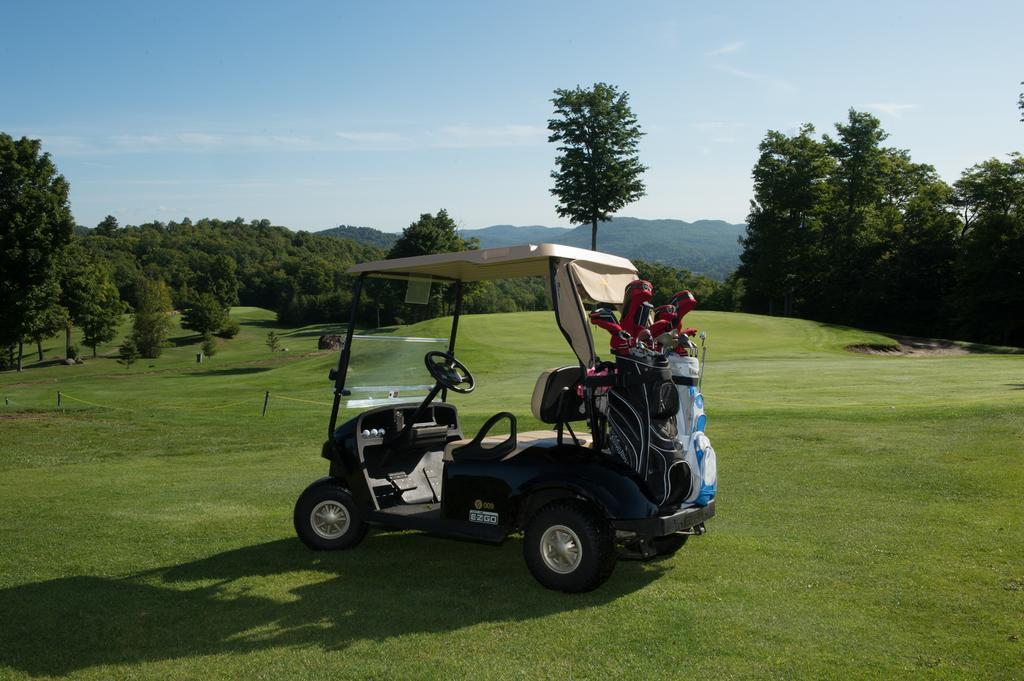
<path id="1" fill-rule="evenodd" d="M 703 413 L 703 396 L 697 389 L 700 363 L 696 357 L 674 353 L 669 356 L 669 367 L 679 398 L 677 439 L 690 473 L 689 493 L 682 501 L 707 506 L 718 491 L 718 461 L 715 449 L 703 432 L 708 417 Z"/>

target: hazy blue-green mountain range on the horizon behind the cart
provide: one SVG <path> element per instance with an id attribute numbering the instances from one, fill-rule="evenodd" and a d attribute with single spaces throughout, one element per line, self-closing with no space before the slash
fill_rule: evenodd
<path id="1" fill-rule="evenodd" d="M 684 222 L 615 217 L 597 225 L 597 246 L 606 253 L 664 262 L 723 280 L 739 264 L 741 249 L 737 240 L 745 227 L 722 220 Z M 316 233 L 351 239 L 385 250 L 390 249 L 398 238 L 397 233 L 347 225 Z M 463 229 L 462 237 L 480 240 L 480 248 L 516 244 L 565 244 L 590 248 L 589 224 L 579 227 L 496 224 L 482 229 Z"/>

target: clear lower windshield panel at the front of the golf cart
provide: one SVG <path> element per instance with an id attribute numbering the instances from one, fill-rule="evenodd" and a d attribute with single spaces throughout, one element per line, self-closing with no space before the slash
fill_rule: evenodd
<path id="1" fill-rule="evenodd" d="M 447 350 L 447 338 L 355 334 L 345 381 L 345 409 L 419 401 L 433 387 L 423 357 Z"/>

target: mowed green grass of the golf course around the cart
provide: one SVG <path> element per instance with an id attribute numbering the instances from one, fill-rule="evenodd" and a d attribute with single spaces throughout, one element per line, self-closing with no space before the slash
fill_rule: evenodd
<path id="1" fill-rule="evenodd" d="M 336 354 L 309 328 L 271 355 L 272 315 L 233 314 L 242 335 L 202 366 L 179 338 L 130 370 L 0 374 L 0 677 L 1024 676 L 1024 355 L 855 354 L 890 341 L 691 314 L 719 515 L 570 596 L 532 580 L 519 538 L 306 550 L 292 505 L 327 470 Z M 552 314 L 460 326 L 478 383 L 455 400 L 465 430 L 503 410 L 539 427 L 534 382 L 571 361 Z M 366 371 L 408 351 L 383 345 Z"/>

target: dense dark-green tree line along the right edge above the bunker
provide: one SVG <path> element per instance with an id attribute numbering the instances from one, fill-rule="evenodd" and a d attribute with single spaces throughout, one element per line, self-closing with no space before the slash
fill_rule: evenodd
<path id="1" fill-rule="evenodd" d="M 1024 344 L 1024 159 L 952 185 L 851 110 L 836 134 L 769 131 L 733 282 L 742 309 Z"/>

